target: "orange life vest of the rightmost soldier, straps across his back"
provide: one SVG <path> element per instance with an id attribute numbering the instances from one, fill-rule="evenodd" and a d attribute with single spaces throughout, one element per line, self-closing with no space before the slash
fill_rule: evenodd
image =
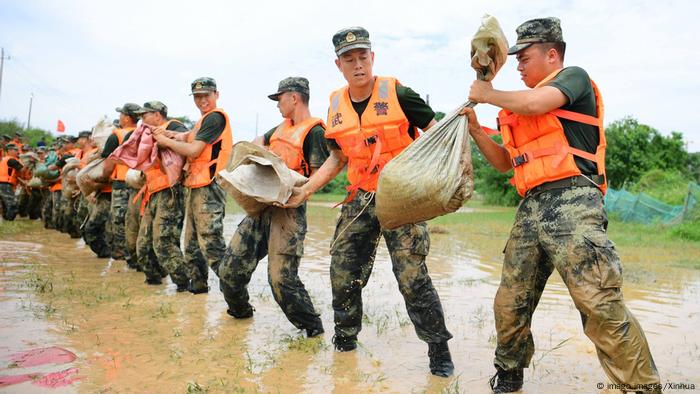
<path id="1" fill-rule="evenodd" d="M 559 74 L 561 69 L 548 75 L 537 87 L 545 85 Z M 515 175 L 511 180 L 518 194 L 525 196 L 528 190 L 545 182 L 552 182 L 581 175 L 574 156 L 593 161 L 598 166 L 598 175 L 605 179 L 605 129 L 603 127 L 603 98 L 591 80 L 596 101 L 597 116 L 555 109 L 541 115 L 519 115 L 501 110 L 498 126 L 503 137 L 503 146 L 510 155 Z M 596 153 L 589 153 L 569 145 L 564 127 L 559 118 L 585 123 L 598 128 L 600 142 Z M 598 185 L 603 194 L 606 182 Z"/>

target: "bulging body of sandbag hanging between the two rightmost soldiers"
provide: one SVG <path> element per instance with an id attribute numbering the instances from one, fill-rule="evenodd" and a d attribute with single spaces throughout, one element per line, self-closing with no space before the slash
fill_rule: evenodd
<path id="1" fill-rule="evenodd" d="M 471 197 L 474 174 L 467 119 L 455 112 L 384 166 L 375 209 L 382 227 L 392 229 L 454 212 Z"/>

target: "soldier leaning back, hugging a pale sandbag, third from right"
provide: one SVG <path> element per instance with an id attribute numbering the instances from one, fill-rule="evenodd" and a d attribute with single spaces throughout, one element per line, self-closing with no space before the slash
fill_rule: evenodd
<path id="1" fill-rule="evenodd" d="M 286 78 L 277 93 L 268 97 L 277 101 L 284 121 L 253 142 L 269 147 L 290 169 L 310 176 L 326 160 L 328 150 L 323 121 L 309 112 L 309 81 Z M 272 294 L 287 319 L 305 329 L 308 337 L 323 334 L 323 323 L 298 275 L 305 236 L 306 204 L 290 209 L 269 207 L 243 219 L 219 267 L 221 291 L 231 316 L 253 316 L 246 287 L 258 262 L 267 255 Z"/>

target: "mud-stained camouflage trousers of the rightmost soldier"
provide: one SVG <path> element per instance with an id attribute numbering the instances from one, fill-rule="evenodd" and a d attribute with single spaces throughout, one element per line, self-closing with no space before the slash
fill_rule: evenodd
<path id="1" fill-rule="evenodd" d="M 530 364 L 532 314 L 556 269 L 608 377 L 617 384 L 659 383 L 642 327 L 622 299 L 622 267 L 607 224 L 603 195 L 594 186 L 548 190 L 520 203 L 494 301 L 496 366 Z"/>

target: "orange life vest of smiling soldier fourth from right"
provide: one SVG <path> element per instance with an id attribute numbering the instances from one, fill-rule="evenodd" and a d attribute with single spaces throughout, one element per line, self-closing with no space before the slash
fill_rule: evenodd
<path id="1" fill-rule="evenodd" d="M 214 175 L 226 168 L 228 161 L 231 158 L 233 150 L 233 135 L 231 133 L 231 122 L 228 115 L 221 108 L 216 108 L 204 114 L 195 125 L 194 129 L 187 136 L 187 142 L 194 141 L 197 131 L 202 126 L 204 118 L 212 112 L 218 112 L 224 116 L 226 126 L 221 132 L 219 138 L 211 144 L 207 144 L 202 150 L 202 153 L 197 158 L 187 158 L 187 167 L 185 173 L 185 181 L 183 185 L 191 189 L 209 185 L 214 180 Z M 214 147 L 218 148 L 215 152 Z M 213 170 L 213 172 L 212 172 Z"/>

